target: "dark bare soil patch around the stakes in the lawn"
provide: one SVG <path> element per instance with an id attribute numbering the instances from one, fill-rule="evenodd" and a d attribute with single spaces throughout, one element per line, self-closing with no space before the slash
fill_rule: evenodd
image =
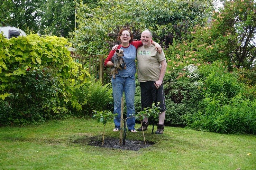
<path id="1" fill-rule="evenodd" d="M 85 137 L 82 139 L 76 139 L 73 141 L 74 143 L 87 144 L 91 146 L 103 147 L 103 148 L 113 148 L 113 149 L 127 149 L 132 151 L 137 151 L 141 148 L 147 148 L 151 145 L 155 144 L 154 142 L 146 141 L 136 141 L 136 140 L 127 140 L 125 141 L 125 145 L 119 144 L 119 139 L 116 138 L 105 138 L 104 144 L 102 145 L 102 136 L 94 136 L 94 137 Z"/>

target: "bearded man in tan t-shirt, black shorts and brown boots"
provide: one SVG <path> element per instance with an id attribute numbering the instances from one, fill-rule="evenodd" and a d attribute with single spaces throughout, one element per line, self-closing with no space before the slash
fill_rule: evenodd
<path id="1" fill-rule="evenodd" d="M 138 81 L 140 82 L 141 107 L 151 107 L 152 103 L 160 102 L 159 122 L 157 124 L 156 134 L 163 134 L 165 120 L 165 98 L 163 88 L 163 78 L 166 72 L 166 59 L 162 52 L 157 53 L 155 46 L 151 44 L 152 34 L 145 30 L 140 37 L 143 46 L 137 49 L 138 61 Z M 147 130 L 148 117 L 145 117 L 142 126 L 138 131 Z"/>

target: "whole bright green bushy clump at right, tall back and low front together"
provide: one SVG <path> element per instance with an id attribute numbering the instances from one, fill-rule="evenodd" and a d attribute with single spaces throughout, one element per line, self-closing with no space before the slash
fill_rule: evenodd
<path id="1" fill-rule="evenodd" d="M 227 72 L 221 62 L 199 68 L 204 99 L 201 110 L 184 116 L 194 129 L 220 133 L 253 133 L 256 124 L 256 90 L 238 82 L 238 74 Z M 250 94 L 248 94 L 250 93 Z"/>

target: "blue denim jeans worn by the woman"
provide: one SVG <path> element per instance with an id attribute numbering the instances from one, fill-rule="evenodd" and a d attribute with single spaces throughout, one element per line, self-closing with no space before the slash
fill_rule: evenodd
<path id="1" fill-rule="evenodd" d="M 113 99 L 114 99 L 114 114 L 117 113 L 117 117 L 121 117 L 121 98 L 123 92 L 125 92 L 125 101 L 127 117 L 135 115 L 134 97 L 135 97 L 135 76 L 112 78 Z M 115 128 L 120 129 L 120 120 L 114 119 Z M 122 120 L 123 121 L 123 120 Z M 135 130 L 135 117 L 126 120 L 128 130 Z"/>

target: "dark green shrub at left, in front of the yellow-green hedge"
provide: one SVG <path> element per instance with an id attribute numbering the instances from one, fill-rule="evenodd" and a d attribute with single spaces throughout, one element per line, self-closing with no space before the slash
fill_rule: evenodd
<path id="1" fill-rule="evenodd" d="M 59 118 L 61 112 L 67 114 L 67 108 L 61 107 L 58 100 L 60 88 L 56 71 L 41 66 L 27 68 L 26 72 L 26 75 L 19 76 L 13 82 L 16 88 L 8 91 L 5 101 L 10 109 L 6 112 L 8 115 L 5 119 L 17 124 L 27 124 Z"/>

